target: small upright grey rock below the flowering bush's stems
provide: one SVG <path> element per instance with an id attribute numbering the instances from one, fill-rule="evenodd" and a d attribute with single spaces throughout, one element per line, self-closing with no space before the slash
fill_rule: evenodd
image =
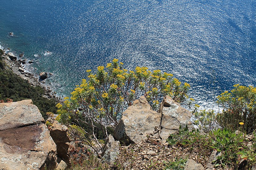
<path id="1" fill-rule="evenodd" d="M 119 155 L 119 142 L 115 141 L 112 135 L 108 136 L 104 151 L 102 152 L 102 163 L 114 164 Z"/>

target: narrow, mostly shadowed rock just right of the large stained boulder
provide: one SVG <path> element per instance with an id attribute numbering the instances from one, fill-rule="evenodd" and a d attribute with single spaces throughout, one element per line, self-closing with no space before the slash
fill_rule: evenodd
<path id="1" fill-rule="evenodd" d="M 60 124 L 57 121 L 54 121 L 51 129 L 50 135 L 57 146 L 57 155 L 61 159 L 63 159 L 68 168 L 70 167 L 70 155 L 68 153 L 70 138 L 68 137 L 68 127 Z"/>

